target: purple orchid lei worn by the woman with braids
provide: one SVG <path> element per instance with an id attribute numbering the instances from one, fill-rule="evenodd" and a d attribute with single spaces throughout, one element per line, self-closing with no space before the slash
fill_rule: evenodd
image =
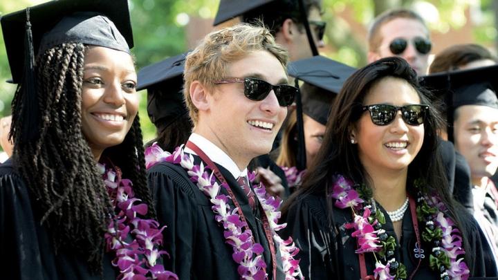
<path id="1" fill-rule="evenodd" d="M 106 170 L 100 163 L 97 168 L 102 174 L 111 203 L 118 210 L 118 214 L 111 217 L 105 234 L 107 251 L 116 252 L 112 264 L 120 270 L 117 279 L 178 280 L 176 274 L 157 263 L 160 256 L 167 255 L 166 251 L 158 250 L 163 242 L 162 232 L 165 227 L 158 228 L 157 221 L 140 218 L 147 214 L 147 205 L 134 198 L 130 180 L 120 178 L 116 171 Z"/>

